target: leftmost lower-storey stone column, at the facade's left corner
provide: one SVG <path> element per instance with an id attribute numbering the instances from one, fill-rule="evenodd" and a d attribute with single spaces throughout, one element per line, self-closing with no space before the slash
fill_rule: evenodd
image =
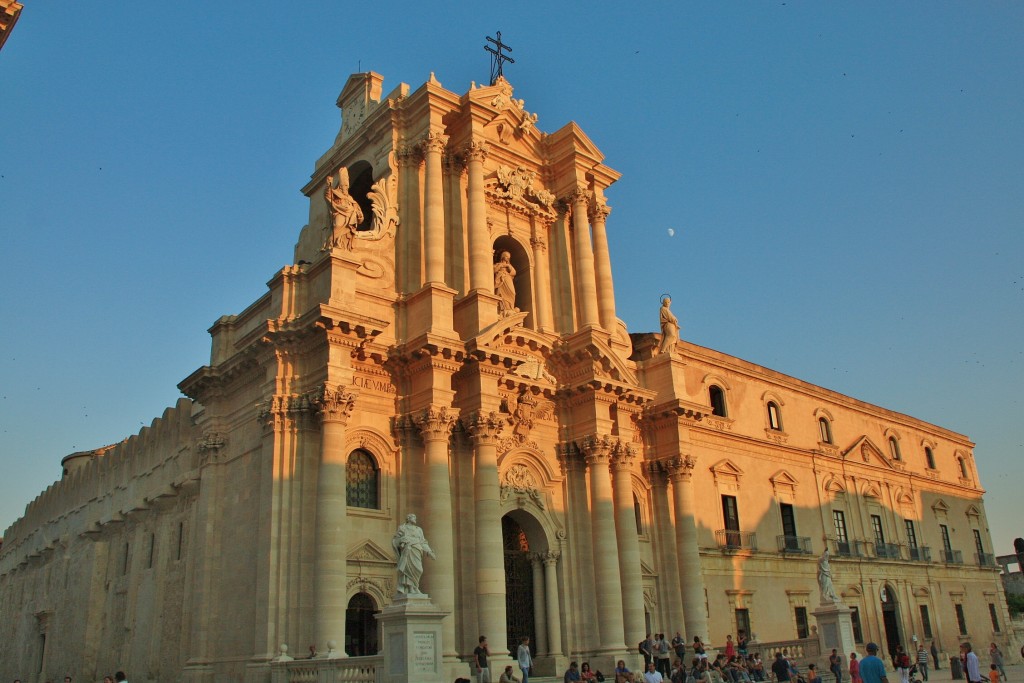
<path id="1" fill-rule="evenodd" d="M 345 610 L 348 609 L 348 501 L 345 425 L 355 397 L 343 389 L 325 387 L 321 409 L 321 465 L 316 475 L 316 645 L 328 642 L 344 651 Z"/>

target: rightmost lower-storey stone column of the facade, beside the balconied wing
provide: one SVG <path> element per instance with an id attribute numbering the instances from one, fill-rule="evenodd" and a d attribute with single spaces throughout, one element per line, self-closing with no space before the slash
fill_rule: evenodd
<path id="1" fill-rule="evenodd" d="M 697 547 L 697 527 L 693 515 L 693 467 L 696 459 L 692 456 L 672 458 L 665 465 L 672 481 L 672 499 L 676 509 L 676 557 L 686 636 L 710 638 L 705 609 L 703 574 L 700 573 L 700 550 Z"/>

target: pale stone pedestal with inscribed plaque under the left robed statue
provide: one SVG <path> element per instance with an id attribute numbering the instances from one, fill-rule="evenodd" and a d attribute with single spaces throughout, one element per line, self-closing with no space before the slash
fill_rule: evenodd
<path id="1" fill-rule="evenodd" d="M 377 614 L 381 624 L 381 654 L 377 683 L 443 683 L 441 621 L 447 615 L 426 595 L 395 596 Z"/>

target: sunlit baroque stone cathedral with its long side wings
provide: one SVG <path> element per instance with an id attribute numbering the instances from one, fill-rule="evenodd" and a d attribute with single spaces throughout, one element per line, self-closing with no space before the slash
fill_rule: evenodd
<path id="1" fill-rule="evenodd" d="M 826 549 L 853 642 L 1013 650 L 966 436 L 679 341 L 669 301 L 631 335 L 618 173 L 505 79 L 337 105 L 294 264 L 6 531 L 0 674 L 383 680 L 409 514 L 449 681 L 481 634 L 494 680 L 523 637 L 541 676 L 650 632 L 811 656 Z"/>

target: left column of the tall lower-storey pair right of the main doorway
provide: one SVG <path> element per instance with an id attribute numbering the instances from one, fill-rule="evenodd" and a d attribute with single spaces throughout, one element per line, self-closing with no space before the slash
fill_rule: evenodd
<path id="1" fill-rule="evenodd" d="M 582 449 L 590 467 L 591 517 L 593 519 L 594 602 L 600 605 L 600 649 L 620 651 L 626 647 L 623 621 L 623 585 L 618 574 L 618 539 L 611 497 L 608 460 L 613 441 L 608 436 L 591 437 Z"/>

